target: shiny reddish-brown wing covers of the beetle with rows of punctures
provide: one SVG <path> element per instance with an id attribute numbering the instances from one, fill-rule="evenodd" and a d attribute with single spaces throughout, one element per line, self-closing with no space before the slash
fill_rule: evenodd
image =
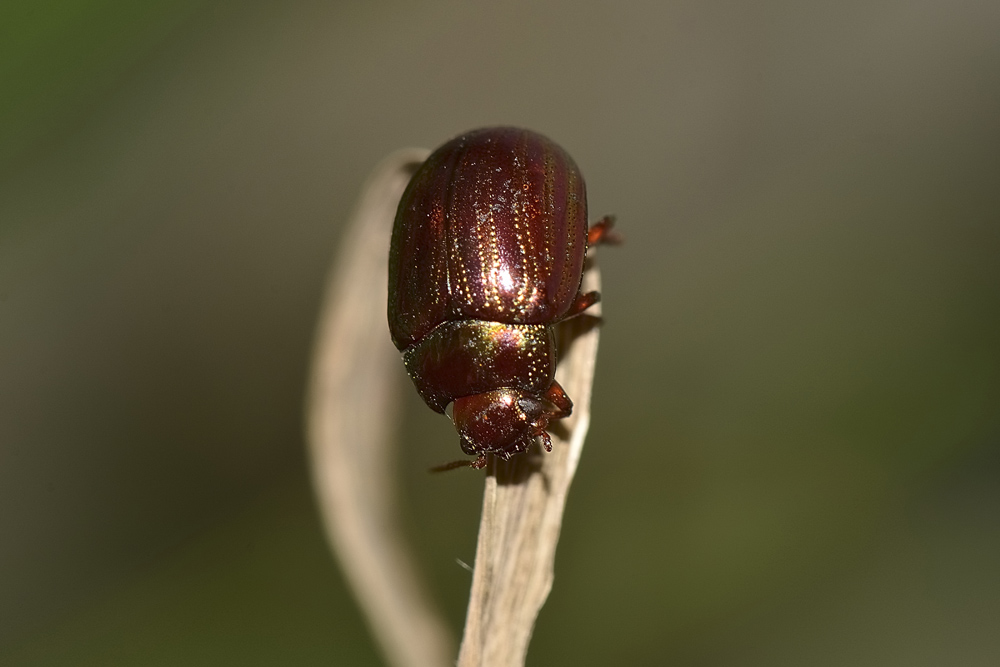
<path id="1" fill-rule="evenodd" d="M 400 350 L 442 322 L 553 324 L 587 249 L 586 186 L 542 135 L 486 128 L 434 151 L 400 201 L 389 252 L 389 329 Z"/>

